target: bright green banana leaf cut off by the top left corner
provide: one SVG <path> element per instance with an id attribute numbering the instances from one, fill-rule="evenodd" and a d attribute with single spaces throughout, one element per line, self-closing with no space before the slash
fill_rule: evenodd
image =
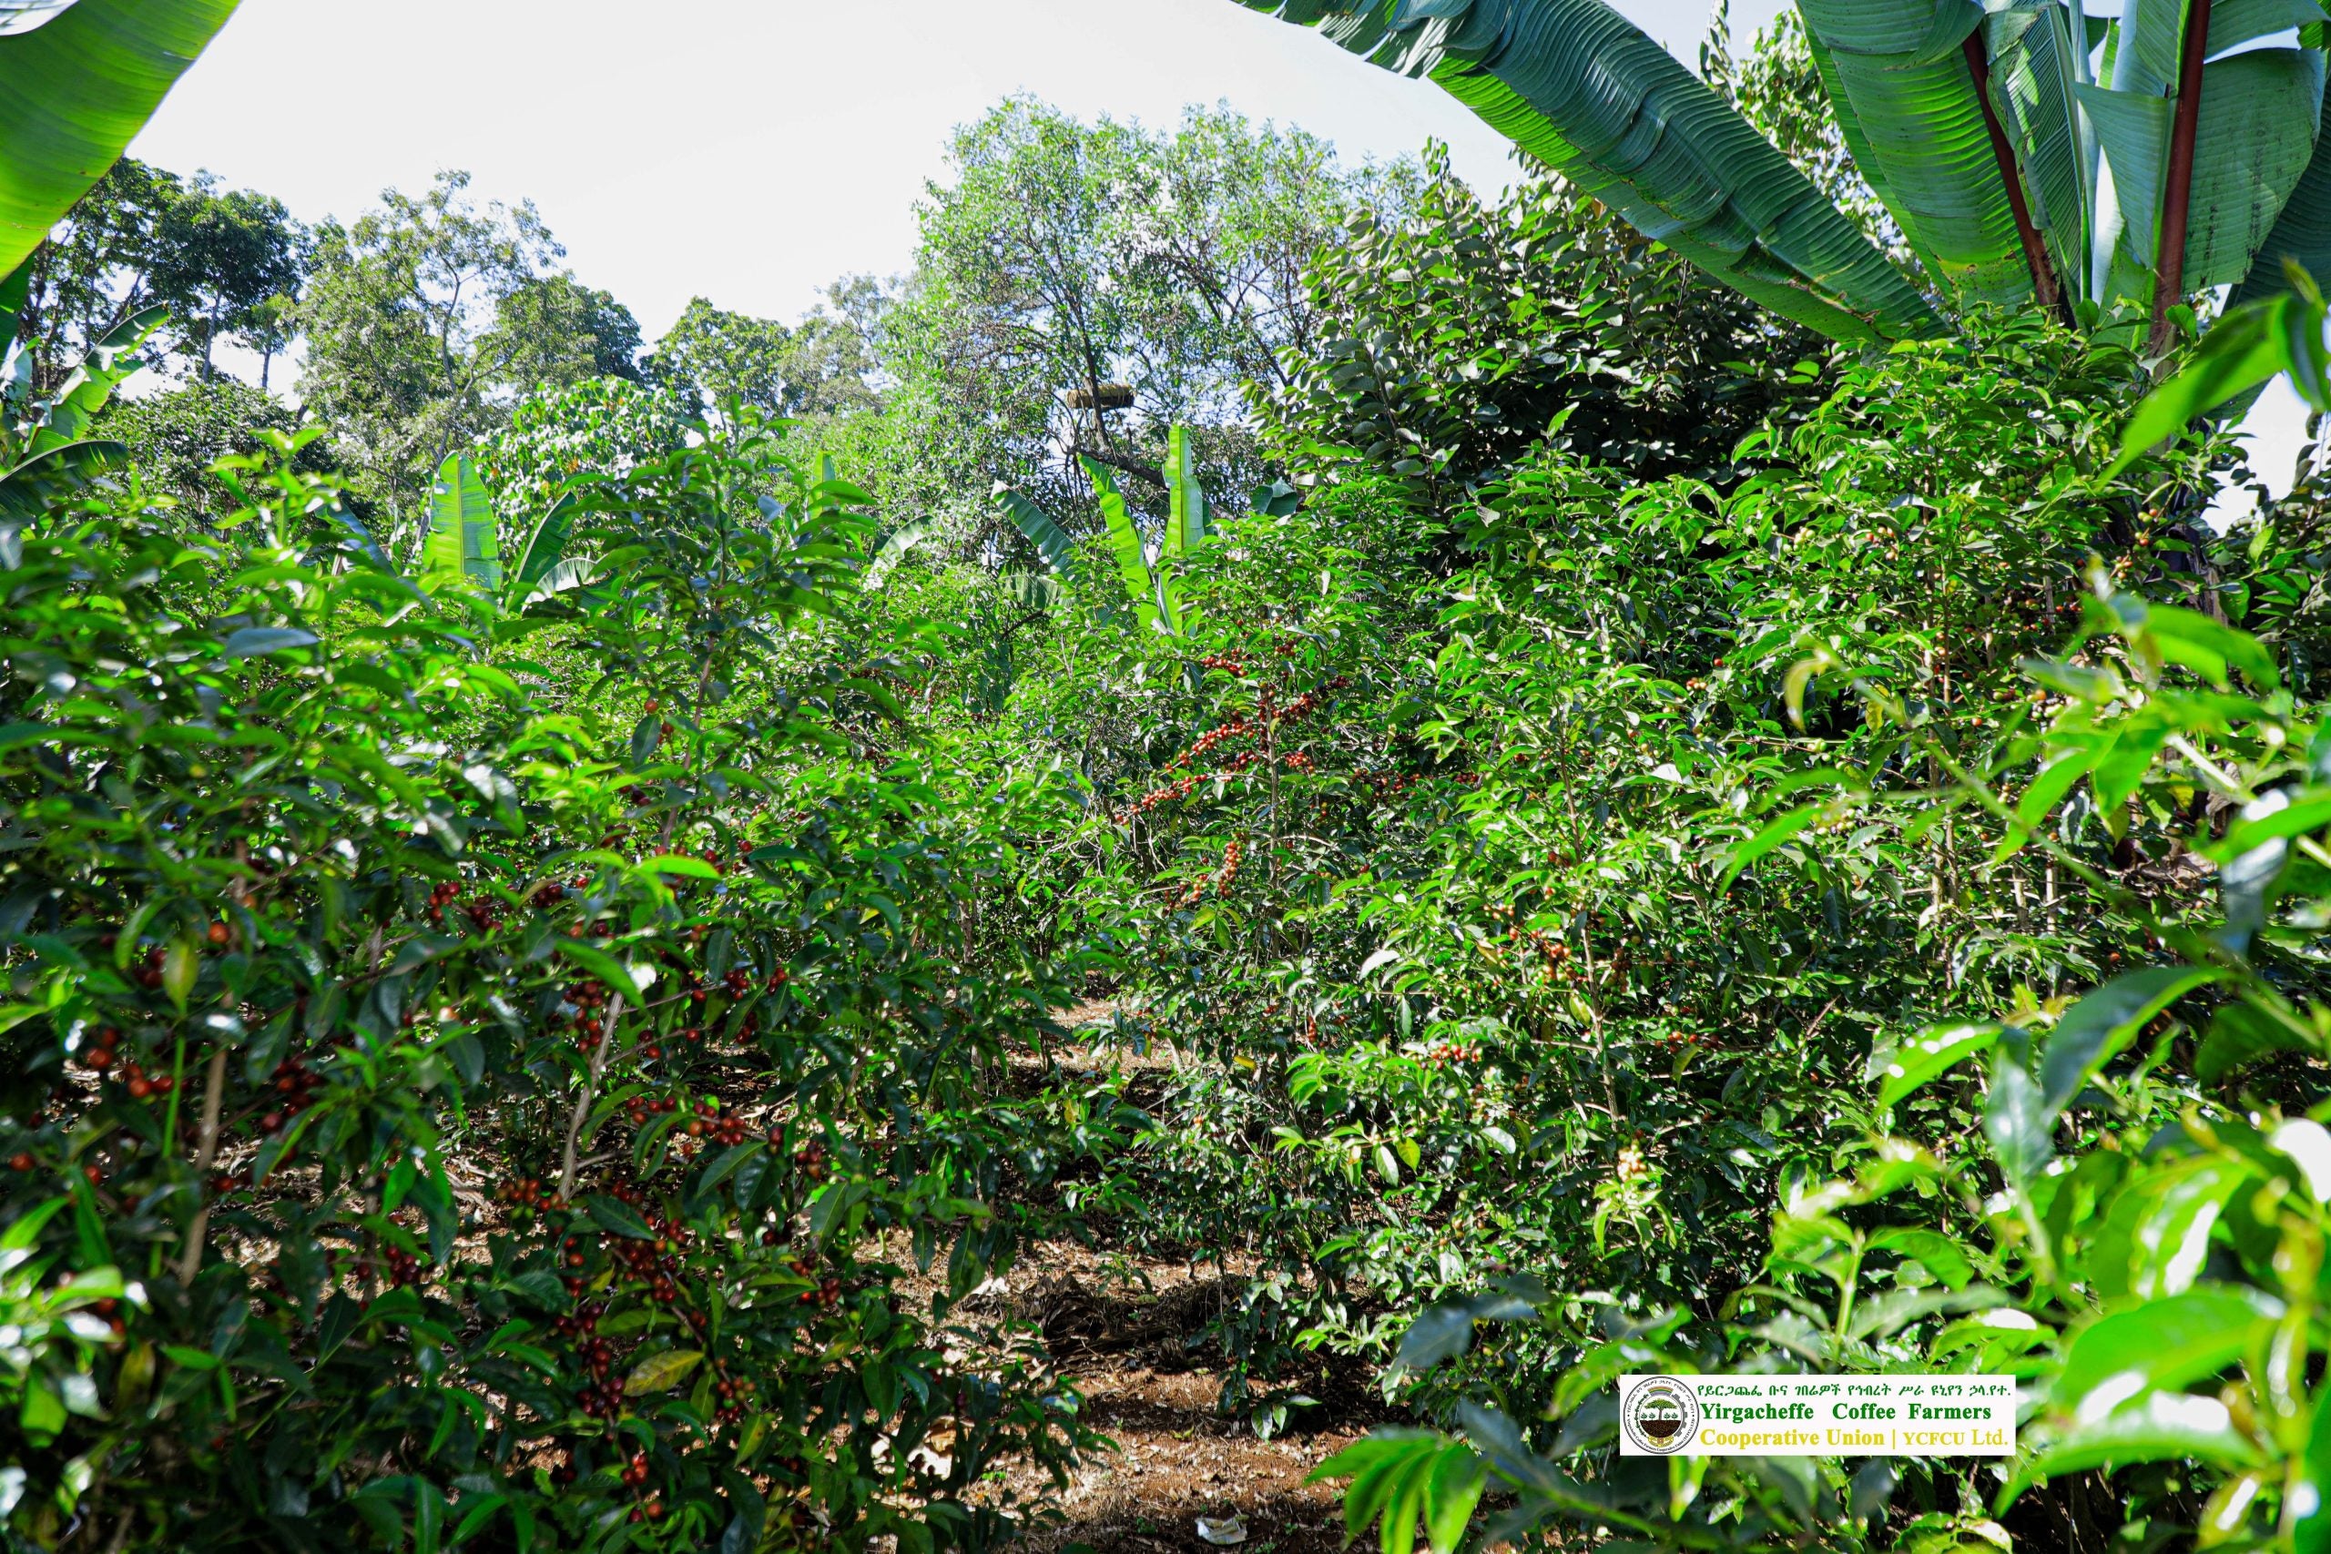
<path id="1" fill-rule="evenodd" d="M 79 0 L 5 16 L 0 273 L 105 177 L 233 12 L 235 0 Z"/>

